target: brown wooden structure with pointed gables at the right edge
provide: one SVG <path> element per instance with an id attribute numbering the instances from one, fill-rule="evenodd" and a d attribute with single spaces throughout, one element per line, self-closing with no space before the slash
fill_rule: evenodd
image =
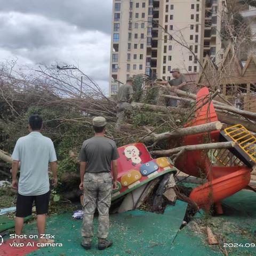
<path id="1" fill-rule="evenodd" d="M 242 65 L 233 47 L 228 46 L 218 66 L 206 56 L 197 84 L 219 87 L 237 108 L 256 112 L 256 56 L 250 55 Z"/>

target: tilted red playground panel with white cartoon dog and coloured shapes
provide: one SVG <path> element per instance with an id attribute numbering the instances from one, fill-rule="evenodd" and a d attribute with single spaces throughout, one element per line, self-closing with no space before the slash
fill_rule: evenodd
<path id="1" fill-rule="evenodd" d="M 168 172 L 177 172 L 167 157 L 153 159 L 143 143 L 118 148 L 118 182 L 113 190 L 115 200 Z"/>

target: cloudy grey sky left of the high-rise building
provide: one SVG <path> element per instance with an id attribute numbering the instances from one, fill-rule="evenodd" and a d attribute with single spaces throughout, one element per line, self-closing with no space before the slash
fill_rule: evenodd
<path id="1" fill-rule="evenodd" d="M 65 62 L 107 89 L 112 0 L 0 0 L 1 62 Z"/>

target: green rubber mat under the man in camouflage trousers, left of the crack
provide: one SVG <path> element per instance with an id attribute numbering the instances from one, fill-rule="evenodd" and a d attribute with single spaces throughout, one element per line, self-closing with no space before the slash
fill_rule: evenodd
<path id="1" fill-rule="evenodd" d="M 187 203 L 177 201 L 167 206 L 164 214 L 145 211 L 129 211 L 110 215 L 109 238 L 114 245 L 99 251 L 97 238 L 93 248 L 85 251 L 81 247 L 82 220 L 73 220 L 71 213 L 55 215 L 47 220 L 46 233 L 55 235 L 55 241 L 63 247 L 47 247 L 29 255 L 170 255 L 169 251 L 187 209 Z M 94 221 L 97 230 L 97 218 Z M 36 223 L 26 225 L 25 234 L 37 234 Z"/>

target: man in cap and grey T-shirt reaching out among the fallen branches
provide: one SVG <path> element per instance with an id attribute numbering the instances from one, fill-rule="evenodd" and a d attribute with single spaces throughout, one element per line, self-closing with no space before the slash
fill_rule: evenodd
<path id="1" fill-rule="evenodd" d="M 179 89 L 182 91 L 187 91 L 188 86 L 187 86 L 187 81 L 185 75 L 180 73 L 179 68 L 173 68 L 172 71 L 173 79 L 170 81 L 161 81 L 157 82 L 158 84 L 165 85 L 167 89 L 170 89 L 172 92 L 175 90 Z M 174 93 L 170 93 L 170 95 L 176 95 Z M 171 107 L 177 107 L 177 100 L 175 99 L 170 99 L 169 104 Z"/>

